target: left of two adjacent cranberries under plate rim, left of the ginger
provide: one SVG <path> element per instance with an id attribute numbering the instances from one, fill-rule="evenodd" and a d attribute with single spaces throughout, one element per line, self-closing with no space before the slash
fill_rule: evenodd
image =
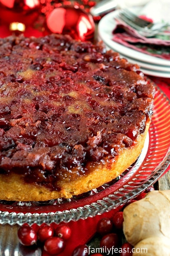
<path id="1" fill-rule="evenodd" d="M 113 229 L 113 223 L 108 218 L 100 219 L 97 223 L 97 232 L 104 236 L 108 233 L 110 233 Z"/>

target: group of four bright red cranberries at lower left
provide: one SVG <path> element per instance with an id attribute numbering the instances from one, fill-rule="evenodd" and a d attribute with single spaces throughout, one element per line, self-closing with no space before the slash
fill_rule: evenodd
<path id="1" fill-rule="evenodd" d="M 71 236 L 71 229 L 68 225 L 63 224 L 54 229 L 52 226 L 41 226 L 38 231 L 28 224 L 24 224 L 18 230 L 19 242 L 25 246 L 31 246 L 40 242 L 44 250 L 50 255 L 61 253 L 65 246 L 66 240 Z"/>

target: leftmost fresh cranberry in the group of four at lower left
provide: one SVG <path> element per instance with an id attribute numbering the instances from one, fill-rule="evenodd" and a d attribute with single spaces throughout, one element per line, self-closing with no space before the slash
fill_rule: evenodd
<path id="1" fill-rule="evenodd" d="M 18 238 L 20 244 L 30 246 L 36 243 L 37 234 L 32 227 L 24 225 L 18 230 Z"/>

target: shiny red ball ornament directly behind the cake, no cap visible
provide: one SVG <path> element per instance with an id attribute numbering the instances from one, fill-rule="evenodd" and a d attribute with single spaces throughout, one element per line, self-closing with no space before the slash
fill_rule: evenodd
<path id="1" fill-rule="evenodd" d="M 44 35 L 69 34 L 81 41 L 93 40 L 95 24 L 93 17 L 76 6 L 63 6 L 53 9 L 46 16 Z"/>

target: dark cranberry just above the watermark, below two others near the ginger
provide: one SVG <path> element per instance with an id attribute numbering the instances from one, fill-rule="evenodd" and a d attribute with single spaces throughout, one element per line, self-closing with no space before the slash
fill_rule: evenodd
<path id="1" fill-rule="evenodd" d="M 112 246 L 117 247 L 119 242 L 118 236 L 115 233 L 110 233 L 102 237 L 100 241 L 100 247 L 106 247 L 108 249 Z"/>

